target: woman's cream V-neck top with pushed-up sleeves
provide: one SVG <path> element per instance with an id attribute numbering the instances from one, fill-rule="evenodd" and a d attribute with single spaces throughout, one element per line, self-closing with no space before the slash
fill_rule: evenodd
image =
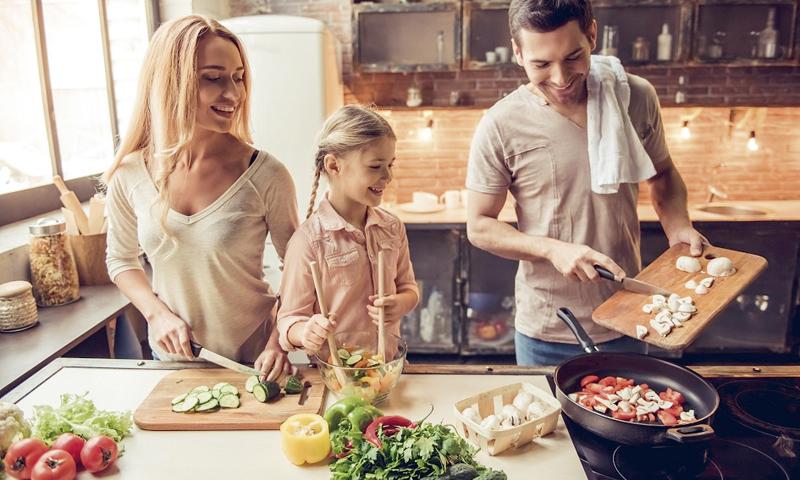
<path id="1" fill-rule="evenodd" d="M 130 155 L 108 188 L 109 276 L 141 270 L 141 245 L 153 268 L 153 291 L 189 324 L 194 339 L 226 357 L 253 362 L 266 345 L 276 302 L 263 278 L 267 234 L 283 258 L 298 225 L 289 171 L 259 152 L 208 207 L 191 216 L 169 211 L 174 242 L 164 239 L 156 199 L 141 153 Z"/>

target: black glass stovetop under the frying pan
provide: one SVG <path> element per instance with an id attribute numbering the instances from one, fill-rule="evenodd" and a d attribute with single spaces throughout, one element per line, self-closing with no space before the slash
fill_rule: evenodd
<path id="1" fill-rule="evenodd" d="M 624 446 L 564 416 L 589 480 L 800 479 L 800 378 L 708 381 L 720 394 L 716 438 L 699 447 Z"/>

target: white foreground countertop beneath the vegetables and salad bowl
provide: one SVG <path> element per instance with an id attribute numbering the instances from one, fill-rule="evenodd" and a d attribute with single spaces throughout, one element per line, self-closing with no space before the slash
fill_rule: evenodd
<path id="1" fill-rule="evenodd" d="M 55 404 L 61 393 L 88 391 L 89 398 L 98 408 L 134 410 L 164 375 L 187 366 L 197 368 L 196 364 L 185 363 L 59 359 L 2 400 L 17 403 L 29 416 L 33 405 Z M 770 377 L 800 372 L 797 366 L 693 368 L 709 377 Z M 397 390 L 381 408 L 386 412 L 420 418 L 433 403 L 435 409 L 431 420 L 453 423 L 452 405 L 464 396 L 465 380 L 470 390 L 481 391 L 520 380 L 543 380 L 543 377 L 530 376 L 551 374 L 552 371 L 546 367 L 410 365 Z M 453 383 L 461 387 L 451 389 Z M 332 401 L 331 397 L 328 403 Z M 291 465 L 280 452 L 277 431 L 155 432 L 135 429 L 133 436 L 124 440 L 124 445 L 125 455 L 104 478 L 255 478 L 265 475 L 280 479 L 329 478 L 327 465 Z M 542 478 L 585 478 L 562 423 L 552 435 L 530 446 L 496 457 L 481 452 L 478 460 L 503 469 L 509 479 L 530 478 L 532 469 Z M 78 478 L 89 479 L 92 476 L 83 472 Z"/>

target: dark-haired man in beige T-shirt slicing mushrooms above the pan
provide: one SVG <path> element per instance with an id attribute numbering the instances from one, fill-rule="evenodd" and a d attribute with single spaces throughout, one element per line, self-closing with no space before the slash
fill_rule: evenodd
<path id="1" fill-rule="evenodd" d="M 594 266 L 620 278 L 641 268 L 638 184 L 619 183 L 612 193 L 593 188 L 592 177 L 605 172 L 593 171 L 589 159 L 596 147 L 587 134 L 587 79 L 597 38 L 591 4 L 513 0 L 509 24 L 514 56 L 530 83 L 497 102 L 475 132 L 467 234 L 477 247 L 520 261 L 517 363 L 554 365 L 582 353 L 557 318 L 559 307 L 575 313 L 601 350 L 641 350 L 637 340 L 591 321 L 592 310 L 617 288 L 600 280 Z M 706 241 L 689 220 L 686 186 L 667 149 L 655 90 L 618 68 L 630 90 L 628 115 L 619 116 L 632 124 L 635 147 L 644 147 L 646 168 L 654 172 L 642 179 L 650 184 L 664 232 L 670 245 L 687 243 L 700 255 Z M 508 191 L 516 200 L 518 230 L 497 219 Z"/>

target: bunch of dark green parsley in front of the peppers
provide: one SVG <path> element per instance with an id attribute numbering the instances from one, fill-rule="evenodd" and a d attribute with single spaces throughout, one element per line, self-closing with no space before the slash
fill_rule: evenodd
<path id="1" fill-rule="evenodd" d="M 364 439 L 358 431 L 334 430 L 333 453 L 340 457 L 331 463 L 332 480 L 383 480 L 447 478 L 448 469 L 467 464 L 485 478 L 504 478 L 475 460 L 478 449 L 461 438 L 452 426 L 423 422 L 416 428 L 400 428 L 393 435 L 378 432 L 381 447 Z M 477 477 L 481 478 L 481 477 Z"/>

